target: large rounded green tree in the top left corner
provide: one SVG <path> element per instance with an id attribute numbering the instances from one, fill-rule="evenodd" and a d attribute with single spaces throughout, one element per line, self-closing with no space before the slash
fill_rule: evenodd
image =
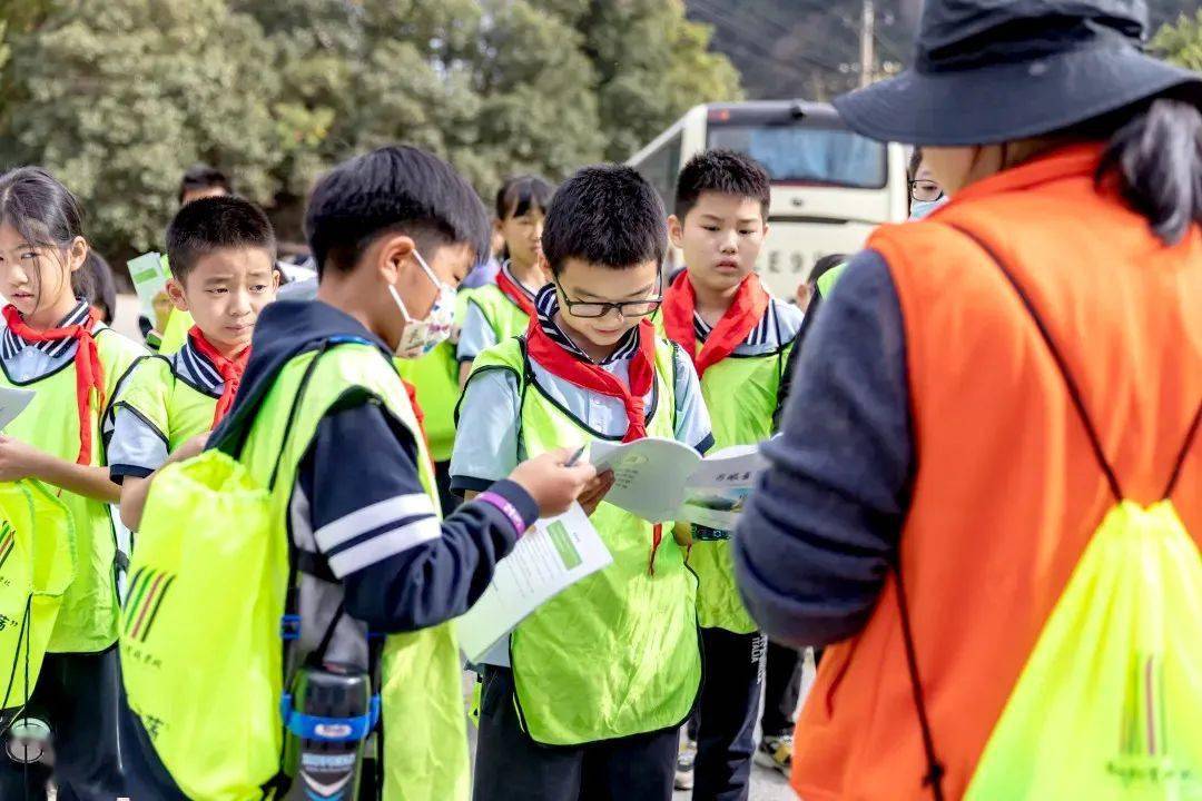
<path id="1" fill-rule="evenodd" d="M 263 102 L 276 92 L 262 68 L 270 48 L 221 0 L 79 0 L 12 50 L 17 98 L 0 151 L 70 186 L 102 251 L 155 246 L 180 172 L 197 161 L 270 197 L 284 133 Z"/>

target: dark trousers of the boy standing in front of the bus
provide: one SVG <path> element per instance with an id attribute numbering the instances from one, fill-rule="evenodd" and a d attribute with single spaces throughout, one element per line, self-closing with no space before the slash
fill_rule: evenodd
<path id="1" fill-rule="evenodd" d="M 763 683 L 762 634 L 701 629 L 706 683 L 697 706 L 695 801 L 744 801 Z"/>

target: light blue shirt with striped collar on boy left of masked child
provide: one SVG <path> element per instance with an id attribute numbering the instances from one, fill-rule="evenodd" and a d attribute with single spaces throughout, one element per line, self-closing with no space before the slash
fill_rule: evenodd
<path id="1" fill-rule="evenodd" d="M 209 395 L 214 401 L 221 397 L 221 393 L 225 391 L 225 382 L 221 381 L 221 373 L 218 372 L 218 369 L 209 361 L 208 357 L 196 349 L 191 337 L 184 342 L 183 347 L 166 358 L 171 363 L 171 373 L 175 379 L 183 381 L 204 395 Z M 118 484 L 126 476 L 145 478 L 162 467 L 163 462 L 167 461 L 167 456 L 171 455 L 167 444 L 168 432 L 160 431 L 157 426 L 132 407 L 121 404 L 121 396 L 133 390 L 139 382 L 151 378 L 157 379 L 157 375 L 149 370 L 149 366 L 153 365 L 142 365 L 133 371 L 121 395 L 113 399 L 113 411 L 108 416 L 108 419 L 106 419 L 108 472 Z M 163 397 L 162 395 L 157 396 Z M 162 413 L 157 416 L 159 419 L 168 419 L 168 412 L 169 410 L 162 410 Z M 204 431 L 194 431 L 183 438 L 186 440 L 189 436 L 198 434 L 204 434 Z"/>

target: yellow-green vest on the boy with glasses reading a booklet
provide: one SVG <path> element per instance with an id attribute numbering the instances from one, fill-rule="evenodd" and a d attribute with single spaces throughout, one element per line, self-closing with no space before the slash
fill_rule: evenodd
<path id="1" fill-rule="evenodd" d="M 674 436 L 673 352 L 656 339 L 650 436 Z M 600 438 L 538 387 L 524 340 L 481 353 L 472 375 L 498 369 L 517 378 L 522 401 L 514 423 L 529 456 Z M 701 686 L 697 579 L 672 524 L 664 524 L 653 573 L 651 524 L 605 502 L 591 521 L 613 564 L 540 606 L 510 638 L 514 701 L 540 743 L 571 746 L 679 725 Z"/>

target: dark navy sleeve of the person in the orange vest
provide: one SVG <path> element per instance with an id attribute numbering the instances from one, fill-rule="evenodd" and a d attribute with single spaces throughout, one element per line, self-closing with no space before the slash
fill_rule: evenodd
<path id="1" fill-rule="evenodd" d="M 798 354 L 770 467 L 733 539 L 743 602 L 793 645 L 868 621 L 910 504 L 914 444 L 905 336 L 881 256 L 856 256 Z"/>

